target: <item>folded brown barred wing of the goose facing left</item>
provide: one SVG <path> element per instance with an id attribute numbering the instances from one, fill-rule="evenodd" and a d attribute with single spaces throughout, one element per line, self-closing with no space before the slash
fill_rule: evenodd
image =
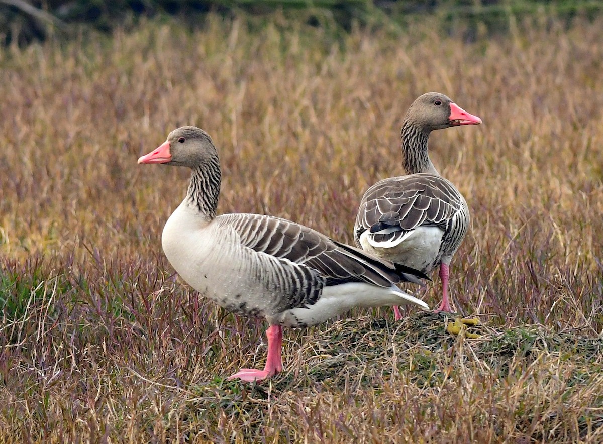
<path id="1" fill-rule="evenodd" d="M 428 278 L 290 220 L 260 214 L 223 214 L 218 219 L 236 231 L 242 246 L 260 253 L 263 272 L 291 293 L 292 307 L 314 304 L 324 286 L 362 282 L 388 288 Z"/>

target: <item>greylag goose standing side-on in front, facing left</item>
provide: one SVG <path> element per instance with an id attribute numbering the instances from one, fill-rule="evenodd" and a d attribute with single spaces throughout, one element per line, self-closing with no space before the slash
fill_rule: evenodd
<path id="1" fill-rule="evenodd" d="M 163 251 L 195 290 L 241 316 L 265 317 L 264 370 L 241 369 L 230 378 L 263 380 L 282 371 L 283 327 L 320 324 L 353 307 L 425 302 L 400 290 L 425 274 L 336 242 L 318 231 L 259 214 L 216 216 L 220 192 L 218 152 L 196 127 L 172 131 L 166 142 L 138 159 L 192 169 L 182 204 L 163 228 Z"/>

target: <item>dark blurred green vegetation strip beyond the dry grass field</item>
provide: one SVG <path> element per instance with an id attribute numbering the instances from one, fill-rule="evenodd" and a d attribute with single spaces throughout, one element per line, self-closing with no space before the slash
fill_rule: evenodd
<path id="1" fill-rule="evenodd" d="M 593 19 L 603 11 L 599 0 L 0 0 L 0 42 L 29 43 L 49 34 L 73 36 L 82 28 L 110 31 L 119 26 L 136 25 L 140 19 L 178 16 L 189 27 L 200 28 L 206 13 L 232 17 L 245 13 L 259 20 L 280 11 L 309 25 L 328 23 L 337 30 L 349 31 L 360 25 L 393 25 L 403 28 L 409 20 L 435 14 L 447 30 L 459 25 L 469 28 L 467 37 L 480 31 L 507 31 L 517 16 L 555 16 Z"/>

